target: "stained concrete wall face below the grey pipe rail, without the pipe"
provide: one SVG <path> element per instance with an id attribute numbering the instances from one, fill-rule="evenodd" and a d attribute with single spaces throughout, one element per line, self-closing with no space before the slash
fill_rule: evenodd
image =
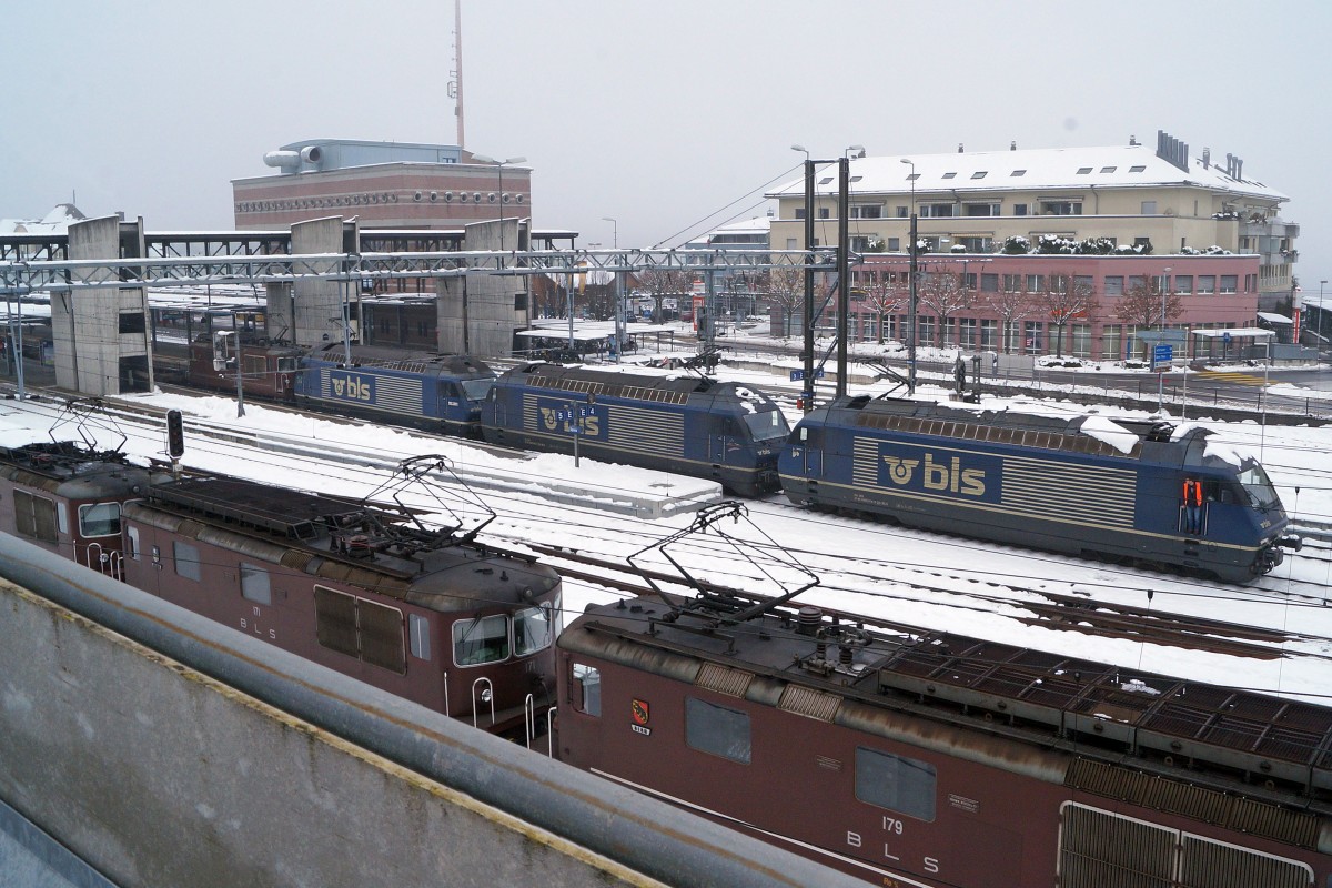
<path id="1" fill-rule="evenodd" d="M 119 884 L 658 884 L 36 595 L 0 600 L 0 793 Z"/>

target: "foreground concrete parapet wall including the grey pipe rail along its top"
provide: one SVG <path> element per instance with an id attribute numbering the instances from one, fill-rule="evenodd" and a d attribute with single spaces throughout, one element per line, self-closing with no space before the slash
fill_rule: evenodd
<path id="1" fill-rule="evenodd" d="M 0 799 L 120 885 L 862 884 L 4 534 L 0 576 Z"/>

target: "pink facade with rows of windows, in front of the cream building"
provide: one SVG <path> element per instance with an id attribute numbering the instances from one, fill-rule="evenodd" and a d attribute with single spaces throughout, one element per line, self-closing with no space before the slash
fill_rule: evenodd
<path id="1" fill-rule="evenodd" d="M 908 269 L 902 254 L 852 269 L 852 339 L 906 341 Z M 1135 334 L 1164 329 L 1184 332 L 1192 357 L 1197 332 L 1253 328 L 1259 273 L 1252 254 L 930 253 L 918 257 L 916 342 L 1102 361 L 1142 354 Z"/>

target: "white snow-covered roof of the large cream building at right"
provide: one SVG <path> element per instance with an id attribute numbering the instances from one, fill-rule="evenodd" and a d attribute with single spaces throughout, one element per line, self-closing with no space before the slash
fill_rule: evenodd
<path id="1" fill-rule="evenodd" d="M 914 166 L 903 162 L 911 161 Z M 1199 157 L 1189 158 L 1185 173 L 1156 156 L 1147 145 L 1107 145 L 1102 148 L 1035 148 L 1022 150 L 964 152 L 947 154 L 891 154 L 851 160 L 851 193 L 903 193 L 911 190 L 911 173 L 918 174 L 918 196 L 954 190 L 1007 192 L 1087 188 L 1132 188 L 1192 185 L 1233 192 L 1269 200 L 1289 200 L 1263 182 L 1239 180 L 1215 164 L 1203 166 Z M 836 193 L 836 170 L 823 168 L 815 173 L 814 190 Z M 766 197 L 797 197 L 805 193 L 805 178 L 793 180 Z"/>

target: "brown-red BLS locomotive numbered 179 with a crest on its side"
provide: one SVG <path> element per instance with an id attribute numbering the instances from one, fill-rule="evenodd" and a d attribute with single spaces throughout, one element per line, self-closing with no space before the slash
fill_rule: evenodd
<path id="1" fill-rule="evenodd" d="M 1332 884 L 1332 708 L 742 596 L 561 635 L 559 755 L 874 884 Z"/>

